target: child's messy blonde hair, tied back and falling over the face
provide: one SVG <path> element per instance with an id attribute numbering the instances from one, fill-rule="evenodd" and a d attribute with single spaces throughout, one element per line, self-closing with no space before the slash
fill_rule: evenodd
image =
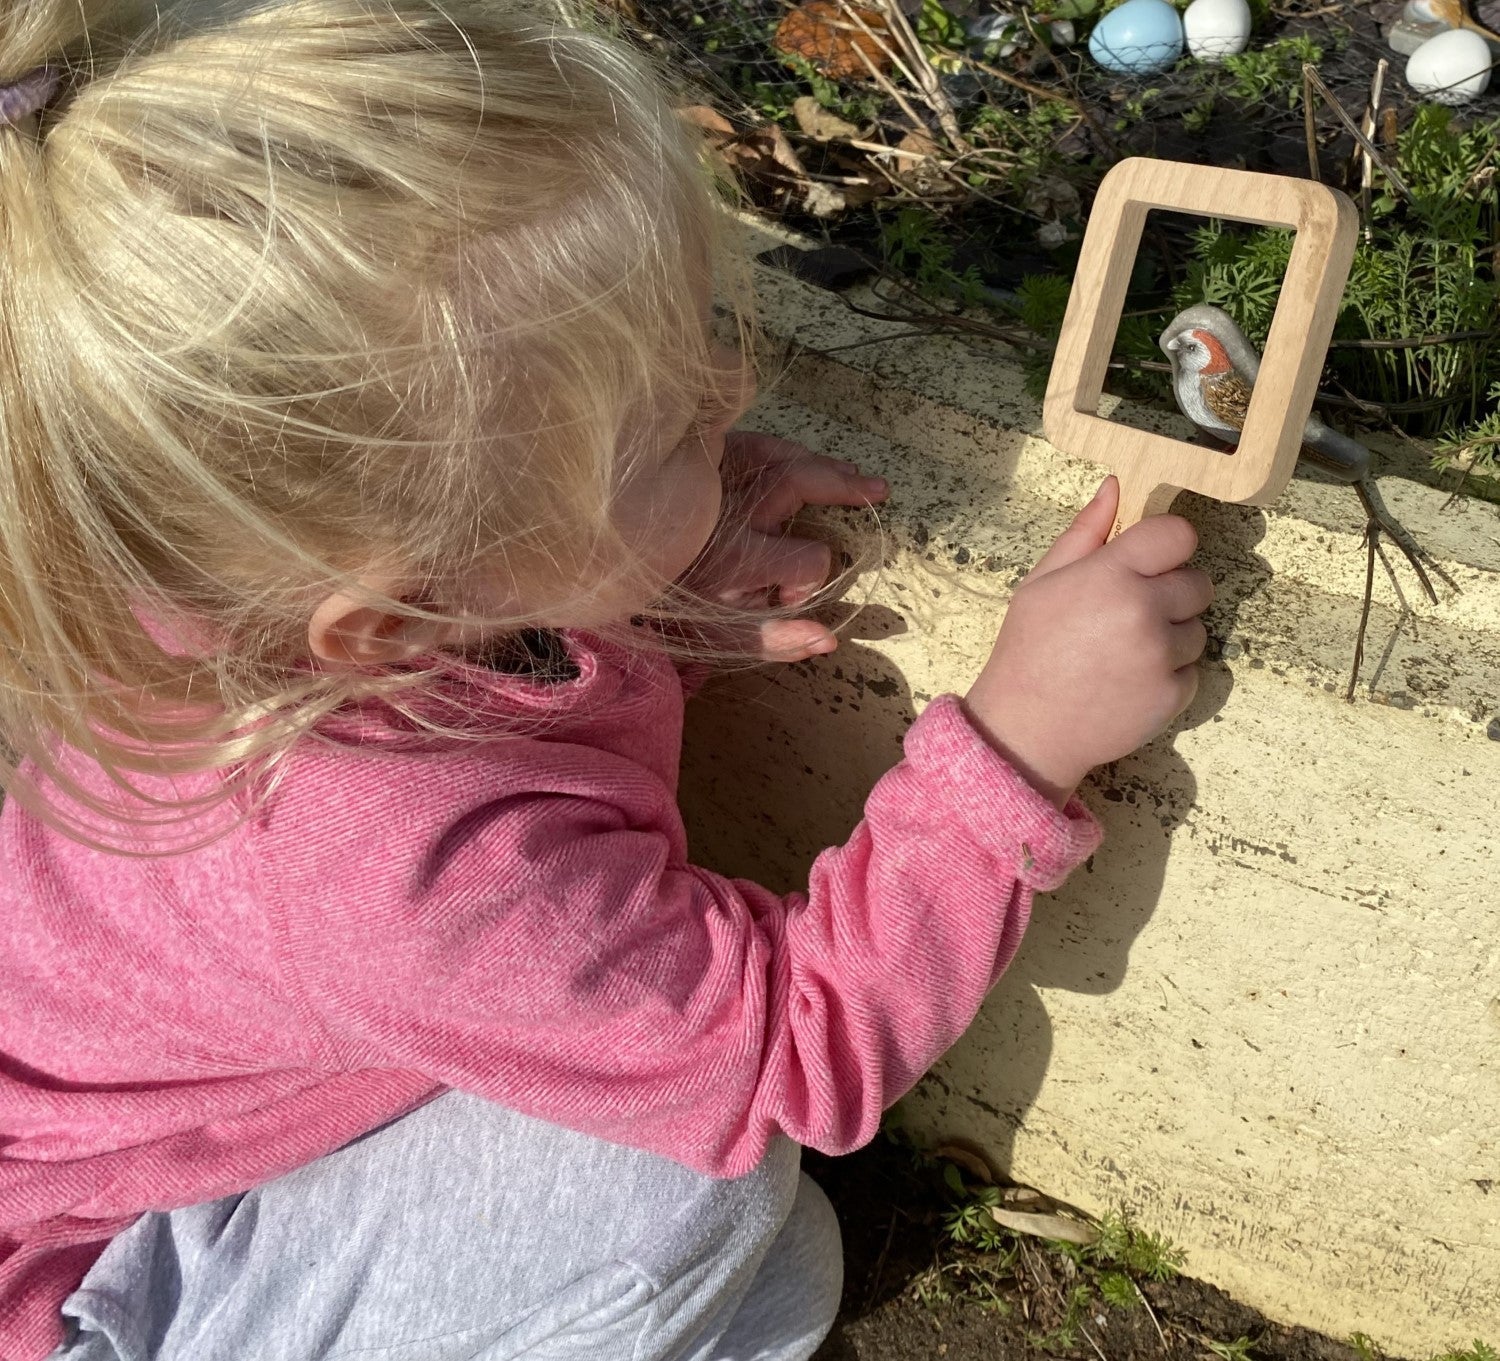
<path id="1" fill-rule="evenodd" d="M 0 80 L 0 774 L 264 767 L 410 671 L 306 665 L 374 558 L 582 579 L 644 395 L 712 381 L 699 147 L 540 0 L 15 0 Z M 696 281 L 702 279 L 702 284 Z M 516 617 L 504 627 L 532 623 Z M 99 807 L 98 803 L 92 804 Z"/>

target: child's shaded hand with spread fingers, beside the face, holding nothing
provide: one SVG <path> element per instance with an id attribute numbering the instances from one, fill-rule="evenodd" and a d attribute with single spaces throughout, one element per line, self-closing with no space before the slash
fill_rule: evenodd
<path id="1" fill-rule="evenodd" d="M 722 476 L 724 513 L 684 585 L 748 609 L 798 605 L 828 582 L 830 546 L 788 530 L 804 506 L 866 506 L 884 501 L 888 491 L 884 479 L 862 477 L 854 464 L 744 432 L 724 440 Z M 798 662 L 837 645 L 816 620 L 765 620 L 752 650 L 768 662 Z"/>

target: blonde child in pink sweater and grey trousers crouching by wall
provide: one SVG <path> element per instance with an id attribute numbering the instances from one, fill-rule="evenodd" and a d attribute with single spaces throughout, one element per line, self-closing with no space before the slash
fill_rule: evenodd
<path id="1" fill-rule="evenodd" d="M 146 11 L 142 14 L 142 9 Z M 832 650 L 722 215 L 542 0 L 0 15 L 0 1356 L 807 1358 L 1212 590 L 1114 486 L 806 894 L 687 860 L 675 657 Z M 14 759 L 10 759 L 14 758 Z"/>

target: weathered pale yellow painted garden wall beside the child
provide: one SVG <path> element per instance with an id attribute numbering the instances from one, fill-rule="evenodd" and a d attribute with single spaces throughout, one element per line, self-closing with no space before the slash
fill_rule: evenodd
<path id="1" fill-rule="evenodd" d="M 794 359 L 756 423 L 892 482 L 885 566 L 838 653 L 690 707 L 698 852 L 792 888 L 914 713 L 968 686 L 1098 471 L 1036 437 L 1004 345 L 836 350 L 902 327 L 764 285 L 768 330 L 830 353 Z M 1179 503 L 1220 587 L 1202 693 L 1090 779 L 1104 846 L 1038 900 L 909 1106 L 1017 1179 L 1131 1208 L 1275 1317 L 1425 1355 L 1500 1341 L 1500 516 L 1383 486 L 1461 594 L 1419 602 L 1396 555 L 1402 615 L 1377 575 L 1353 705 L 1353 494 L 1299 480 L 1269 512 Z"/>

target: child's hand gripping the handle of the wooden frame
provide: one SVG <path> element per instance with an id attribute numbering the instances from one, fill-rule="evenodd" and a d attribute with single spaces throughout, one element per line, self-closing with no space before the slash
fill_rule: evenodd
<path id="1" fill-rule="evenodd" d="M 1016 590 L 966 707 L 981 732 L 1059 807 L 1095 765 L 1150 741 L 1192 701 L 1214 600 L 1182 564 L 1185 519 L 1158 515 L 1106 543 L 1119 485 L 1100 488 Z"/>

